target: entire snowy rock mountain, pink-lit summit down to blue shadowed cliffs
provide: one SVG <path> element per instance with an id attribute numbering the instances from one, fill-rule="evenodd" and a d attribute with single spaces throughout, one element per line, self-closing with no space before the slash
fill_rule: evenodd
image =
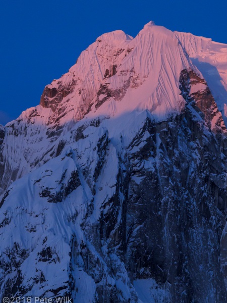
<path id="1" fill-rule="evenodd" d="M 0 127 L 1 300 L 226 301 L 226 50 L 103 34 Z"/>

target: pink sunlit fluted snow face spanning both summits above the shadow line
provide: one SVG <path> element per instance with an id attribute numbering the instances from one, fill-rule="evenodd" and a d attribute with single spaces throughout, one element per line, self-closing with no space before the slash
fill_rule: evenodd
<path id="1" fill-rule="evenodd" d="M 163 119 L 181 108 L 179 74 L 189 68 L 174 33 L 149 22 L 134 39 L 120 30 L 98 37 L 69 73 L 46 86 L 40 104 L 60 123 L 135 109 Z"/>

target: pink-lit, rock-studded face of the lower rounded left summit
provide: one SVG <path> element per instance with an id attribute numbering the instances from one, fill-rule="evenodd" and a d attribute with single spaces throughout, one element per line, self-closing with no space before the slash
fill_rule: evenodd
<path id="1" fill-rule="evenodd" d="M 84 52 L 69 72 L 47 85 L 40 104 L 51 108 L 50 121 L 60 124 L 78 121 L 87 113 L 105 77 L 116 72 L 116 65 L 128 54 L 132 37 L 121 30 L 101 35 Z"/>

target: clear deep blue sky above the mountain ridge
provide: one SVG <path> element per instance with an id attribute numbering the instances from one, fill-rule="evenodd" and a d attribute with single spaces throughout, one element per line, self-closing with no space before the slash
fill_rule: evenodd
<path id="1" fill-rule="evenodd" d="M 1 4 L 0 124 L 39 104 L 99 35 L 122 29 L 136 36 L 153 20 L 171 30 L 227 43 L 227 2 L 141 0 L 8 0 Z"/>

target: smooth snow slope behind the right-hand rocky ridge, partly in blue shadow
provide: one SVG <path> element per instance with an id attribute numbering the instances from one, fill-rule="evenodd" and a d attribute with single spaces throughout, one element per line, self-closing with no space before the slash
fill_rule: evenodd
<path id="1" fill-rule="evenodd" d="M 175 32 L 192 63 L 201 71 L 227 124 L 227 45 L 190 33 Z"/>

